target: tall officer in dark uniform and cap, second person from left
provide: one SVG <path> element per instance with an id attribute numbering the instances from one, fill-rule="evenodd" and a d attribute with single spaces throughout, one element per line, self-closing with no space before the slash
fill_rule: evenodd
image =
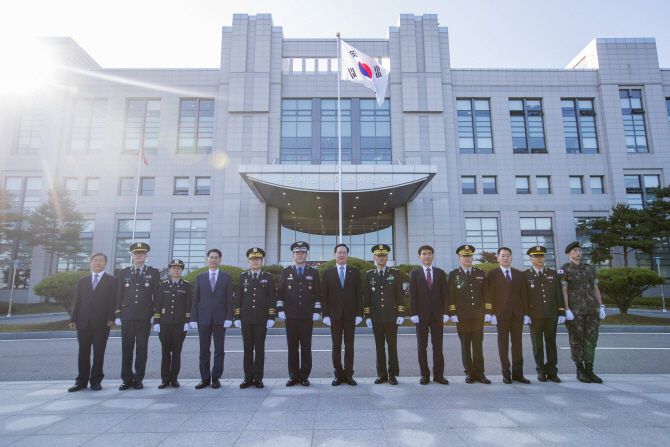
<path id="1" fill-rule="evenodd" d="M 130 246 L 133 263 L 119 272 L 116 294 L 116 324 L 121 326 L 121 379 L 119 390 L 144 388 L 149 332 L 154 305 L 160 294 L 160 273 L 145 265 L 149 244 L 135 242 Z M 133 351 L 135 372 L 133 372 Z"/>

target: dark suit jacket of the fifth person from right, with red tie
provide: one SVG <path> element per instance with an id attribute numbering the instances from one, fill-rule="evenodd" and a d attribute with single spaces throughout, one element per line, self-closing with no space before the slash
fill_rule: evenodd
<path id="1" fill-rule="evenodd" d="M 419 316 L 419 322 L 429 319 L 442 321 L 443 315 L 449 315 L 449 292 L 444 270 L 433 267 L 432 279 L 432 289 L 428 290 L 423 267 L 409 274 L 409 308 L 412 316 Z"/>

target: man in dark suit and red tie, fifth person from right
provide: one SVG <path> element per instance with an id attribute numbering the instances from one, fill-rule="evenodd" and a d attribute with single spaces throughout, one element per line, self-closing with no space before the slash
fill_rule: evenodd
<path id="1" fill-rule="evenodd" d="M 428 331 L 433 345 L 433 381 L 448 385 L 444 377 L 442 337 L 444 323 L 449 321 L 447 276 L 444 270 L 433 267 L 435 251 L 430 245 L 419 248 L 422 266 L 409 274 L 409 308 L 412 323 L 416 325 L 416 343 L 419 350 L 421 385 L 430 382 L 428 368 Z"/>

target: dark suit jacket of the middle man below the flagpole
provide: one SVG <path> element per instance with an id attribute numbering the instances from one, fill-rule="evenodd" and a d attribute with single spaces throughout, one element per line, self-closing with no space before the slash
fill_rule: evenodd
<path id="1" fill-rule="evenodd" d="M 363 290 L 361 273 L 356 267 L 347 265 L 344 287 L 340 282 L 339 266 L 327 268 L 321 280 L 321 310 L 323 317 L 347 321 L 363 318 Z"/>

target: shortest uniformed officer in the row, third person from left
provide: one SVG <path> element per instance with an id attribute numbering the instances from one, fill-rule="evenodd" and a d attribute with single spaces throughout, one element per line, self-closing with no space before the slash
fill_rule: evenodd
<path id="1" fill-rule="evenodd" d="M 170 279 L 161 282 L 161 291 L 156 300 L 154 330 L 159 334 L 162 346 L 161 384 L 159 389 L 172 385 L 179 388 L 181 348 L 191 321 L 191 283 L 181 277 L 184 261 L 173 259 L 168 266 Z"/>

